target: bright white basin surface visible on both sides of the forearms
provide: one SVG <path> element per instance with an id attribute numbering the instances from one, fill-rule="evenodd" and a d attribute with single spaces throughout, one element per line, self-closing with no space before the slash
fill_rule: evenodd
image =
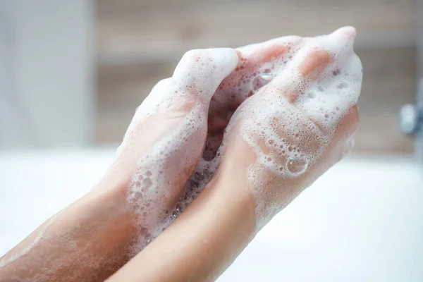
<path id="1" fill-rule="evenodd" d="M 113 155 L 0 152 L 0 255 L 87 192 Z M 219 282 L 423 281 L 421 176 L 411 157 L 350 157 L 278 214 Z"/>

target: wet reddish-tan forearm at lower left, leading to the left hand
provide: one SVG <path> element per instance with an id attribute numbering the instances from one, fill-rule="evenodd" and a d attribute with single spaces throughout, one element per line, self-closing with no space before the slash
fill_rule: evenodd
<path id="1" fill-rule="evenodd" d="M 0 259 L 0 281 L 102 281 L 128 258 L 130 214 L 116 190 L 90 192 Z"/>

